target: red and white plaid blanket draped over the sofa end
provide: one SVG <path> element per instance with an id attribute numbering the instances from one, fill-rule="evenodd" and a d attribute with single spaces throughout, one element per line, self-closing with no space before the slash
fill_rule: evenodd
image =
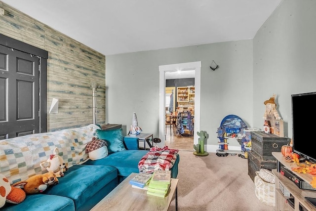
<path id="1" fill-rule="evenodd" d="M 178 151 L 168 149 L 168 146 L 150 148 L 150 151 L 138 163 L 139 172 L 152 173 L 155 170 L 170 170 L 177 159 Z"/>

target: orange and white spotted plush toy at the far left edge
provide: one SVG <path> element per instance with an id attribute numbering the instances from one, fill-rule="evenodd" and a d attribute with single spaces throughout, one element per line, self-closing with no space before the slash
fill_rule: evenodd
<path id="1" fill-rule="evenodd" d="M 5 204 L 19 204 L 24 201 L 25 192 L 17 187 L 11 186 L 9 180 L 0 173 L 0 208 Z"/>

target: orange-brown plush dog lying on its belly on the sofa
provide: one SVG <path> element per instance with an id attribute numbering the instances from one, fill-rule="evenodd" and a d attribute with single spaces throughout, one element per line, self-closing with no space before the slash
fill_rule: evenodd
<path id="1" fill-rule="evenodd" d="M 14 186 L 23 186 L 26 194 L 42 193 L 49 185 L 57 185 L 58 178 L 53 172 L 31 176 L 25 181 L 16 182 Z"/>

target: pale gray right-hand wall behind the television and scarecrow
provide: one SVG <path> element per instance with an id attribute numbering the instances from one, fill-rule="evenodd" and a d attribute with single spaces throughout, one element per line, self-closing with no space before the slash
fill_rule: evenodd
<path id="1" fill-rule="evenodd" d="M 284 135 L 292 137 L 291 94 L 316 91 L 316 0 L 284 0 L 253 39 L 253 122 L 263 126 L 274 93 Z"/>

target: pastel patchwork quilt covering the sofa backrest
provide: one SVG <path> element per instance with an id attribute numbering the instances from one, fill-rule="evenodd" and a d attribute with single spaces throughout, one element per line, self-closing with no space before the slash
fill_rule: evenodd
<path id="1" fill-rule="evenodd" d="M 55 147 L 68 168 L 81 164 L 88 159 L 85 146 L 96 136 L 96 129 L 100 128 L 89 125 L 0 140 L 0 173 L 11 184 L 45 173 L 40 163 L 53 154 Z"/>

